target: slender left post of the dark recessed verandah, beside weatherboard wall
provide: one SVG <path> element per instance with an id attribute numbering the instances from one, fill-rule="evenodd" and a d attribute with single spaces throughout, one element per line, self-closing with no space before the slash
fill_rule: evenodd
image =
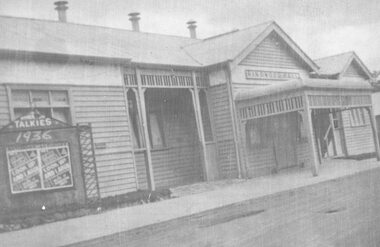
<path id="1" fill-rule="evenodd" d="M 144 132 L 144 140 L 145 140 L 145 149 L 146 149 L 146 158 L 147 158 L 147 177 L 148 177 L 148 186 L 150 190 L 155 190 L 156 185 L 154 183 L 154 173 L 152 166 L 152 153 L 150 150 L 150 139 L 148 132 L 148 121 L 146 117 L 146 105 L 145 105 L 145 90 L 142 88 L 141 84 L 141 74 L 138 68 L 135 69 L 136 81 L 137 81 L 137 91 L 138 91 L 138 101 L 140 106 L 140 114 L 141 114 L 141 124 Z"/>

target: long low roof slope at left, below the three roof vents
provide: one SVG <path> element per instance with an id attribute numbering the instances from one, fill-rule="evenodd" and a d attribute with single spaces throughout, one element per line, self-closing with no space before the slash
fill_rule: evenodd
<path id="1" fill-rule="evenodd" d="M 180 48 L 197 40 L 185 37 L 4 16 L 0 30 L 0 50 L 199 66 Z"/>

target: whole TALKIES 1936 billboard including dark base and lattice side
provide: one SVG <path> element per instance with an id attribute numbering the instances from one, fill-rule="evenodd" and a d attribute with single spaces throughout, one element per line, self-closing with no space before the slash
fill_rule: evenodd
<path id="1" fill-rule="evenodd" d="M 84 150 L 85 131 L 88 129 L 70 126 L 36 109 L 3 127 L 1 209 L 49 208 L 97 200 L 95 164 L 92 171 L 84 166 L 89 158 Z M 92 144 L 91 139 L 87 142 Z M 95 185 L 92 190 L 88 187 L 91 182 Z"/>

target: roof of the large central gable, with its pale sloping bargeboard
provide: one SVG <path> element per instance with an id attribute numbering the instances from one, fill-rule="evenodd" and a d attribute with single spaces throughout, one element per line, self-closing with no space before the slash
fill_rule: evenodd
<path id="1" fill-rule="evenodd" d="M 274 21 L 204 39 L 187 45 L 184 50 L 203 66 L 233 60 L 240 62 L 272 32 L 276 32 L 311 70 L 318 70 L 314 61 Z"/>

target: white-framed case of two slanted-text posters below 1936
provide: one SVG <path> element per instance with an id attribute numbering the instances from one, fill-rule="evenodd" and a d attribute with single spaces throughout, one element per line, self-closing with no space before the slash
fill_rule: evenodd
<path id="1" fill-rule="evenodd" d="M 68 143 L 7 149 L 12 193 L 73 186 Z"/>

